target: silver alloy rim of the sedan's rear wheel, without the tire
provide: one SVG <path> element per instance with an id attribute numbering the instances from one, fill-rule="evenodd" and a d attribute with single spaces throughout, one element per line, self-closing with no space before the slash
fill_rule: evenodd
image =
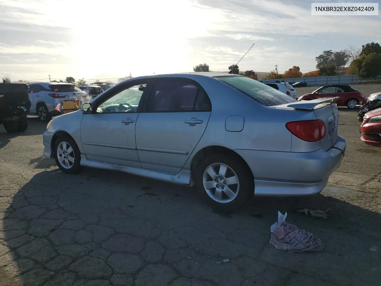
<path id="1" fill-rule="evenodd" d="M 234 170 L 223 163 L 209 165 L 203 174 L 203 186 L 211 199 L 219 203 L 233 201 L 239 192 L 239 179 Z"/>

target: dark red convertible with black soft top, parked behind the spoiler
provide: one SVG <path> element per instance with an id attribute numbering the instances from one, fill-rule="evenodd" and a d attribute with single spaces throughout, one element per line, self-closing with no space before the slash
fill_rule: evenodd
<path id="1" fill-rule="evenodd" d="M 336 101 L 337 106 L 347 106 L 350 109 L 354 109 L 357 104 L 367 101 L 367 98 L 359 90 L 345 84 L 330 84 L 319 87 L 312 93 L 302 95 L 298 100 L 313 100 L 322 97 L 339 97 Z"/>

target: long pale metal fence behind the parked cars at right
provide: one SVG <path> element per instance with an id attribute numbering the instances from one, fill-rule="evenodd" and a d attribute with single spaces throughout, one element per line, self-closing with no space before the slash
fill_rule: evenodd
<path id="1" fill-rule="evenodd" d="M 381 76 L 376 77 L 377 80 L 381 80 Z M 265 80 L 265 79 L 263 79 Z M 294 79 L 277 79 L 284 82 L 306 82 L 309 86 L 314 85 L 327 85 L 327 84 L 358 84 L 360 79 L 358 76 L 330 76 L 330 77 L 300 77 Z"/>

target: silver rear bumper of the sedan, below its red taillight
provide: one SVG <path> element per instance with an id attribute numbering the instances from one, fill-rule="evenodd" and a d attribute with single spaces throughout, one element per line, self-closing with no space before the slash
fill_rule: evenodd
<path id="1" fill-rule="evenodd" d="M 346 141 L 338 139 L 332 148 L 314 152 L 273 152 L 236 149 L 255 178 L 258 196 L 301 196 L 319 193 L 328 177 L 340 165 Z"/>

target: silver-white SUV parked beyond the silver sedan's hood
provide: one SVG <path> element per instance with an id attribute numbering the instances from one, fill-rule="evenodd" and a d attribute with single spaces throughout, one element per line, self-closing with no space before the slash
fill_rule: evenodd
<path id="1" fill-rule="evenodd" d="M 29 84 L 28 92 L 32 103 L 29 114 L 37 114 L 43 122 L 49 122 L 52 116 L 61 114 L 55 109 L 59 100 L 89 101 L 86 92 L 75 84 L 62 82 L 32 82 Z"/>

